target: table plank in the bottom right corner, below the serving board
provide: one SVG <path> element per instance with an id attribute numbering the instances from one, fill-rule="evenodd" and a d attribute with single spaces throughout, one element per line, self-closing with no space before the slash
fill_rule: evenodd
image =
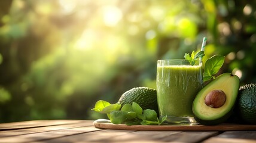
<path id="1" fill-rule="evenodd" d="M 256 142 L 256 130 L 251 131 L 228 131 L 221 133 L 218 136 L 214 136 L 212 138 L 207 139 L 204 141 L 206 143 L 216 143 L 216 142 Z"/>

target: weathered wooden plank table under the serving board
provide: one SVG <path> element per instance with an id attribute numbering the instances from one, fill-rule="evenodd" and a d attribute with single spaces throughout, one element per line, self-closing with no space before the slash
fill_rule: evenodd
<path id="1" fill-rule="evenodd" d="M 0 142 L 256 142 L 256 130 L 147 131 L 95 128 L 93 120 L 0 124 Z"/>

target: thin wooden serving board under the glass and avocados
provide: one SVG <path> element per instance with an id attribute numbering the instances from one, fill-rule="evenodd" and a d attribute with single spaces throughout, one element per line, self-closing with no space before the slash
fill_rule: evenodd
<path id="1" fill-rule="evenodd" d="M 256 125 L 221 124 L 215 126 L 204 125 L 133 125 L 112 124 L 109 120 L 98 119 L 93 122 L 96 128 L 117 130 L 169 130 L 169 131 L 221 131 L 221 130 L 256 130 Z"/>

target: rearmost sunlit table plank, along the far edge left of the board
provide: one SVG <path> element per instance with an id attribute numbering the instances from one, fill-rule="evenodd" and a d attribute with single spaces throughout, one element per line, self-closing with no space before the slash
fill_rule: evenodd
<path id="1" fill-rule="evenodd" d="M 81 123 L 84 120 L 32 120 L 25 122 L 13 122 L 13 123 L 1 123 L 1 130 L 14 130 L 14 129 L 25 129 L 25 128 L 36 128 L 42 126 L 54 126 L 54 125 L 66 125 Z"/>

